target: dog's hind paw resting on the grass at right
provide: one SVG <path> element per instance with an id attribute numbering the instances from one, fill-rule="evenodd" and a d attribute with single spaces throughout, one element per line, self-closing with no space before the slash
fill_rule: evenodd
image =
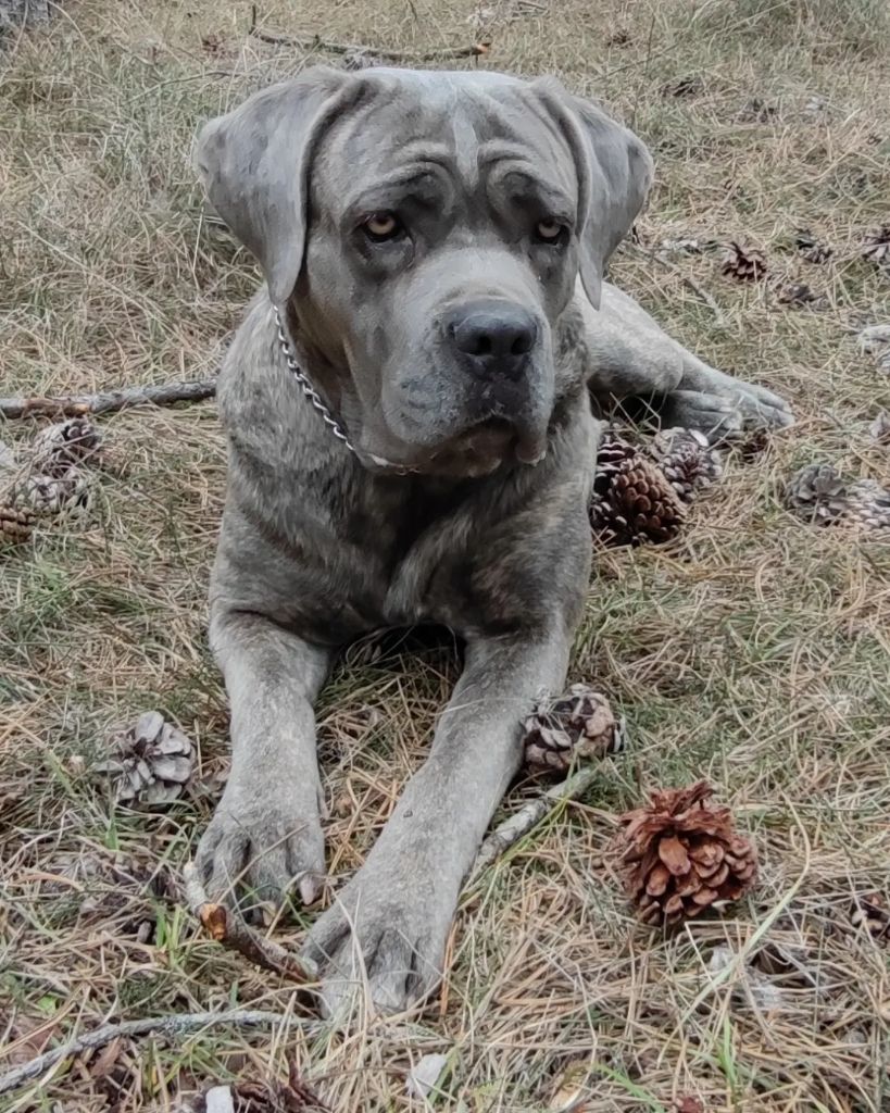
<path id="1" fill-rule="evenodd" d="M 726 378 L 714 391 L 673 391 L 660 410 L 664 427 L 682 426 L 704 433 L 712 442 L 754 429 L 784 429 L 794 424 L 791 407 L 762 386 Z"/>

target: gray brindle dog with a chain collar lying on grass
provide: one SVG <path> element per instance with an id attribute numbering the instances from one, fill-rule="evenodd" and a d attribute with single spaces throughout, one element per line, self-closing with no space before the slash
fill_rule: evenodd
<path id="1" fill-rule="evenodd" d="M 305 903 L 324 876 L 313 703 L 339 647 L 444 623 L 463 676 L 364 867 L 309 933 L 327 1008 L 441 976 L 461 884 L 565 681 L 590 571 L 592 397 L 713 431 L 790 422 L 603 282 L 650 184 L 552 80 L 313 69 L 208 124 L 196 162 L 267 289 L 219 381 L 229 477 L 210 639 L 231 774 L 198 866 Z"/>

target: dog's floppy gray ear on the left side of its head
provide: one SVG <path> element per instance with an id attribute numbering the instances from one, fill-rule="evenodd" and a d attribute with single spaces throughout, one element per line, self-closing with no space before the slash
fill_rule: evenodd
<path id="1" fill-rule="evenodd" d="M 290 296 L 303 267 L 313 149 L 355 85 L 340 70 L 307 70 L 210 120 L 195 144 L 207 196 L 259 260 L 276 305 Z"/>

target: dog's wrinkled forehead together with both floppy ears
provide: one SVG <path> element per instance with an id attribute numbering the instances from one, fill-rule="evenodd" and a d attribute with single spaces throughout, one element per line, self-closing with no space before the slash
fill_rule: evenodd
<path id="1" fill-rule="evenodd" d="M 327 136 L 333 144 L 325 144 Z M 256 255 L 276 304 L 290 297 L 305 258 L 316 156 L 340 174 L 325 200 L 373 187 L 418 144 L 438 145 L 463 175 L 502 144 L 554 197 L 575 200 L 580 273 L 599 305 L 605 262 L 645 197 L 645 147 L 599 107 L 552 79 L 500 73 L 318 67 L 254 93 L 202 129 L 195 162 L 210 200 Z"/>

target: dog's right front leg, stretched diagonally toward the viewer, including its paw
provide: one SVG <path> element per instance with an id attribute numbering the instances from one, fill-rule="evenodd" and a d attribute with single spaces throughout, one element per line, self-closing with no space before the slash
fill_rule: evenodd
<path id="1" fill-rule="evenodd" d="M 365 992 L 377 1008 L 398 1011 L 438 982 L 461 885 L 520 766 L 522 719 L 536 695 L 562 688 L 567 657 L 562 626 L 468 643 L 426 764 L 307 940 L 329 1013 Z"/>

